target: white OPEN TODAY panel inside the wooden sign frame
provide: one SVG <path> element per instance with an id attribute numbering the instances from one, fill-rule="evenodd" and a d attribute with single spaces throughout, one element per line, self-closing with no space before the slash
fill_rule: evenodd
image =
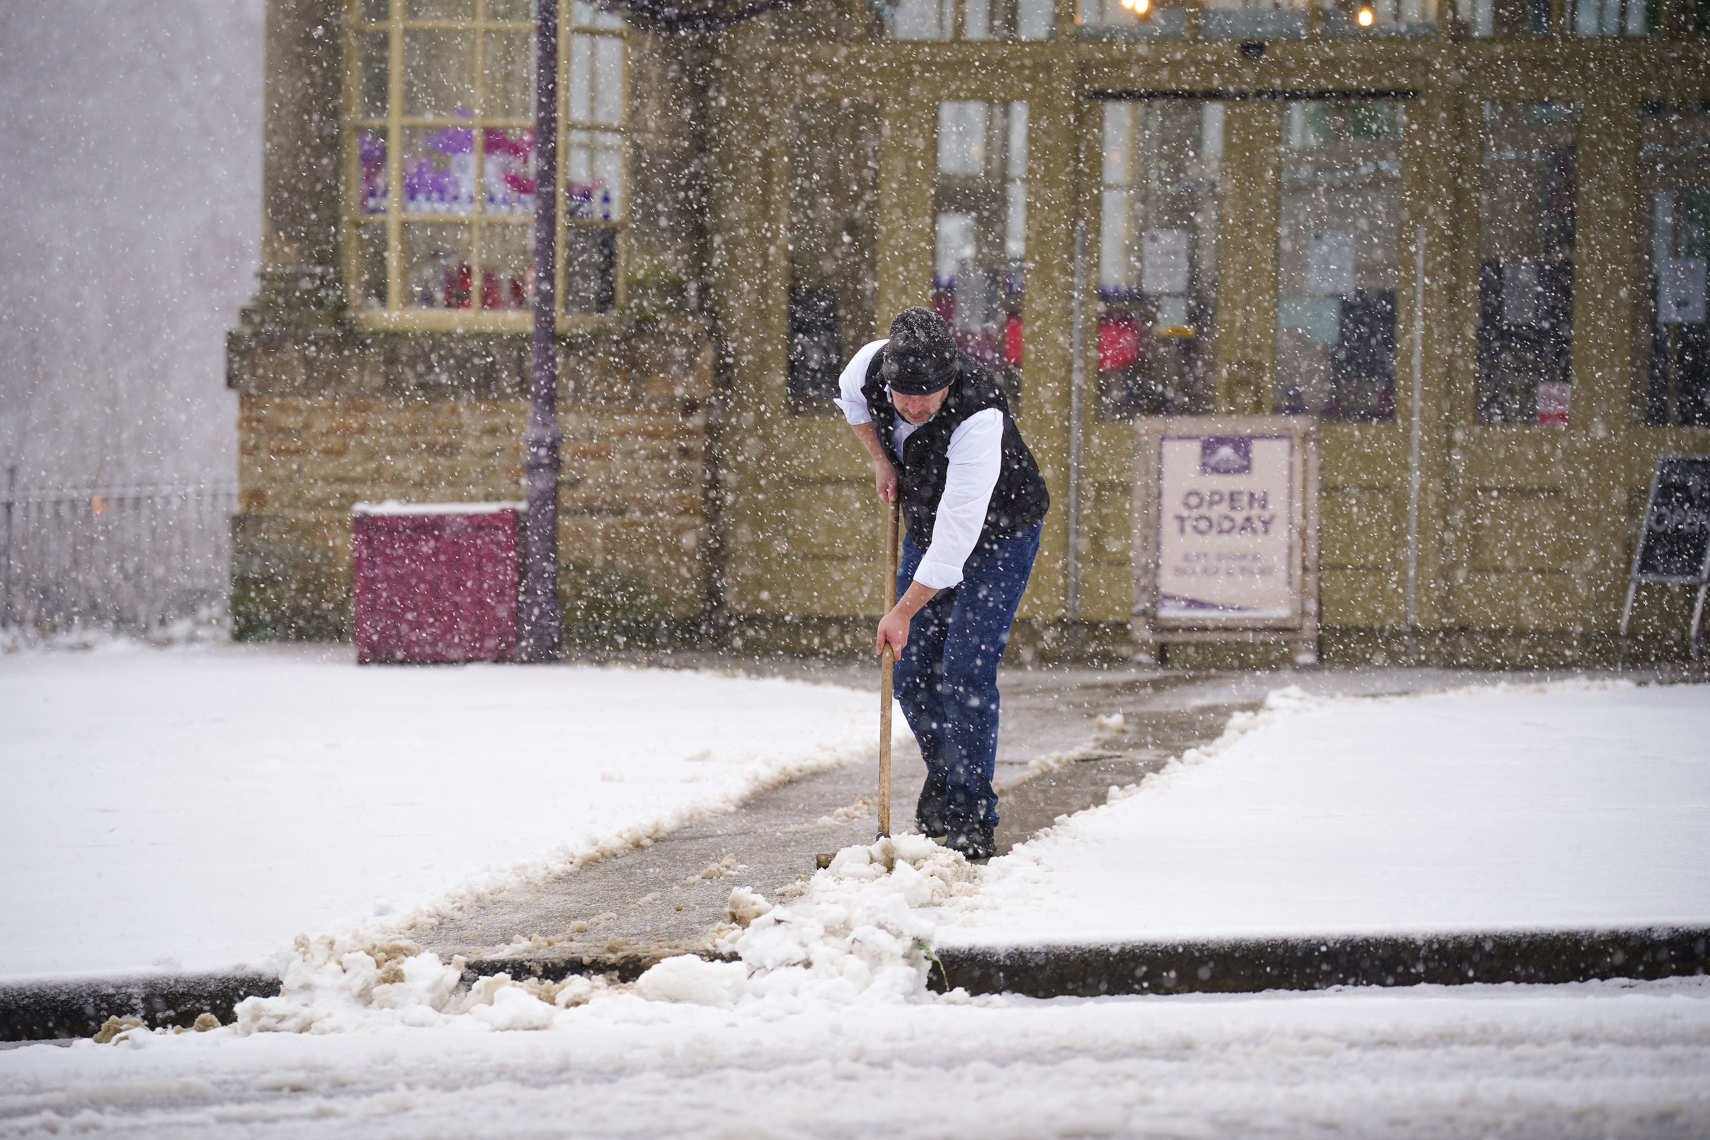
<path id="1" fill-rule="evenodd" d="M 1158 617 L 1294 614 L 1288 436 L 1165 436 L 1158 450 Z"/>

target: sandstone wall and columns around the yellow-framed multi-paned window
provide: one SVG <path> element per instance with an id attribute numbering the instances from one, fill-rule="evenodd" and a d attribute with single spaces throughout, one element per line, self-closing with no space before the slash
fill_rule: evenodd
<path id="1" fill-rule="evenodd" d="M 352 303 L 339 176 L 351 38 L 339 29 L 363 15 L 342 0 L 268 9 L 265 265 L 227 344 L 227 383 L 239 393 L 241 638 L 349 634 L 352 504 L 523 496 L 528 335 L 511 318 L 525 313 L 434 309 L 429 321 L 404 313 L 388 326 Z M 693 626 L 715 585 L 706 461 L 716 361 L 699 292 L 696 96 L 706 51 L 638 31 L 624 41 L 626 190 L 646 224 L 624 234 L 622 306 L 563 328 L 559 585 L 575 626 Z M 431 323 L 445 316 L 467 326 Z"/>

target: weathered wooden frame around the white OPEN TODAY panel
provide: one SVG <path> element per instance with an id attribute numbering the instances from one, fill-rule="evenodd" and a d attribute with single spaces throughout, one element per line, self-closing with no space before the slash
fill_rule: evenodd
<path id="1" fill-rule="evenodd" d="M 1180 438 L 1288 438 L 1289 578 L 1286 617 L 1200 614 L 1158 615 L 1158 526 L 1163 518 L 1163 441 Z M 1296 665 L 1318 660 L 1318 422 L 1310 415 L 1149 415 L 1134 426 L 1134 641 L 1142 658 L 1158 660 L 1170 643 L 1291 646 Z"/>

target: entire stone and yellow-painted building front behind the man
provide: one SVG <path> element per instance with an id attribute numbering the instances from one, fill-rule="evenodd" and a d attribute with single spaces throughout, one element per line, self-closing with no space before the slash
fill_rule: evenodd
<path id="1" fill-rule="evenodd" d="M 441 198 L 479 181 L 465 137 L 498 171 L 523 123 L 441 89 L 484 91 L 525 9 L 270 2 L 265 268 L 229 354 L 239 632 L 344 631 L 357 499 L 518 497 L 510 222 Z M 626 51 L 621 115 L 566 96 L 566 138 L 622 167 L 612 210 L 598 179 L 563 188 L 566 260 L 605 273 L 559 323 L 571 620 L 855 644 L 882 545 L 826 397 L 891 313 L 934 304 L 1009 385 L 1058 504 L 1017 653 L 1125 651 L 1135 417 L 1289 412 L 1320 420 L 1325 658 L 1614 656 L 1655 460 L 1710 451 L 1710 7 L 569 9 L 568 34 Z M 424 44 L 465 27 L 487 72 L 422 85 Z M 424 145 L 441 166 L 410 181 L 398 152 Z M 453 224 L 475 253 L 422 261 Z M 1688 605 L 1647 591 L 1642 656 L 1684 651 Z M 1218 653 L 1182 660 L 1274 656 Z"/>

